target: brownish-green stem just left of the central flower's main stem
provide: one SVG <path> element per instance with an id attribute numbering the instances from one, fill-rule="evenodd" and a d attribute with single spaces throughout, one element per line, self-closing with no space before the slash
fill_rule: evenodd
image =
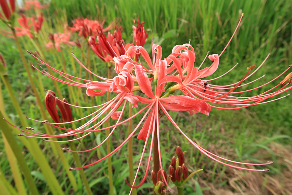
<path id="1" fill-rule="evenodd" d="M 132 116 L 132 104 L 129 103 L 129 118 Z M 133 131 L 133 121 L 129 120 L 128 135 Z M 131 137 L 128 141 L 128 163 L 129 163 L 129 175 L 130 175 L 130 184 L 133 184 L 134 181 L 134 166 L 133 166 L 133 138 Z M 133 195 L 137 194 L 137 190 L 133 188 Z"/>

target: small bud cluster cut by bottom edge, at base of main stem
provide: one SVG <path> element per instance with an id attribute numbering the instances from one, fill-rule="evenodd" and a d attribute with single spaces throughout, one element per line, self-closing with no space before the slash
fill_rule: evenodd
<path id="1" fill-rule="evenodd" d="M 157 175 L 154 170 L 151 171 L 151 178 L 154 185 L 154 192 L 157 195 L 165 195 L 167 191 L 167 184 L 165 184 L 164 178 L 166 177 L 166 172 L 164 170 L 159 169 Z M 168 180 L 167 180 L 168 182 Z"/>

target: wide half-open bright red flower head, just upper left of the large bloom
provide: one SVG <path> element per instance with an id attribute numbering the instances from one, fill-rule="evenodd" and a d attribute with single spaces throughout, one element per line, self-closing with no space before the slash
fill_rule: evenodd
<path id="1" fill-rule="evenodd" d="M 122 39 L 123 29 L 116 26 L 114 34 L 107 33 L 107 37 L 103 33 L 102 28 L 98 29 L 97 42 L 95 42 L 94 36 L 89 37 L 88 44 L 94 53 L 103 61 L 113 61 L 114 57 L 124 55 L 126 52 L 125 42 Z"/>

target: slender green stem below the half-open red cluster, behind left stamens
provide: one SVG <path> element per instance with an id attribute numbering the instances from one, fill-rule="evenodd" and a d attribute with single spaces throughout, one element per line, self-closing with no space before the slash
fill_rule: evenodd
<path id="1" fill-rule="evenodd" d="M 111 77 L 111 68 L 110 66 L 108 67 L 107 69 L 107 78 L 110 78 Z M 107 92 L 107 101 L 109 101 L 109 92 Z M 109 113 L 109 111 L 107 111 L 107 113 Z M 106 122 L 106 126 L 109 127 L 109 119 L 107 120 Z M 106 130 L 106 134 L 107 136 L 109 135 L 109 129 Z M 111 152 L 111 149 L 110 149 L 110 143 L 111 143 L 111 140 L 108 139 L 107 140 L 107 153 L 110 153 Z M 109 156 L 107 157 L 107 169 L 108 169 L 108 175 L 109 175 L 109 194 L 110 195 L 113 195 L 114 194 L 114 182 L 113 182 L 113 179 L 112 179 L 112 158 Z"/>

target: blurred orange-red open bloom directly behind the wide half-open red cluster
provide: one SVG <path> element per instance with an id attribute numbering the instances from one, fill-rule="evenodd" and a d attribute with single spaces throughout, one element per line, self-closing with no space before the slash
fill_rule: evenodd
<path id="1" fill-rule="evenodd" d="M 77 18 L 73 21 L 73 27 L 71 27 L 72 32 L 78 32 L 80 37 L 84 37 L 85 39 L 90 36 L 97 36 L 98 30 L 102 28 L 105 20 L 99 22 L 97 20 L 88 20 L 87 18 Z M 112 29 L 114 23 L 111 23 L 108 27 L 103 28 L 103 32 L 106 32 Z"/>

